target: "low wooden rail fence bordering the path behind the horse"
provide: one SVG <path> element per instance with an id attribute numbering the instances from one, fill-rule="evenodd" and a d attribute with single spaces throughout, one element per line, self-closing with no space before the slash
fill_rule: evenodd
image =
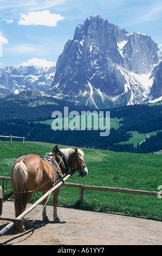
<path id="1" fill-rule="evenodd" d="M 0 180 L 7 179 L 11 180 L 10 177 L 3 177 L 0 176 Z M 120 192 L 120 193 L 129 193 L 129 194 L 142 194 L 145 196 L 154 196 L 154 197 L 162 197 L 161 192 L 155 192 L 155 191 L 146 191 L 146 190 L 129 190 L 127 188 L 118 188 L 118 187 L 96 187 L 96 186 L 86 186 L 82 184 L 74 184 L 74 183 L 68 183 L 65 182 L 62 186 L 67 187 L 78 187 L 79 189 L 79 200 L 83 200 L 83 194 L 84 190 L 97 190 L 97 191 L 109 191 L 109 192 Z"/>

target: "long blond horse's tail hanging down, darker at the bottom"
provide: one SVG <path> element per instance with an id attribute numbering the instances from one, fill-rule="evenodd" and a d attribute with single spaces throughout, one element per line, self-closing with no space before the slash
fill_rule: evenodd
<path id="1" fill-rule="evenodd" d="M 23 211 L 25 182 L 28 179 L 28 169 L 23 162 L 16 163 L 12 172 L 12 187 L 15 197 L 16 217 Z"/>

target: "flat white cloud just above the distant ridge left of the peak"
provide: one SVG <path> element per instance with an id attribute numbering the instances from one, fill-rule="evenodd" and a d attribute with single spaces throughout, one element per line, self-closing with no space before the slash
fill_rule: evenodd
<path id="1" fill-rule="evenodd" d="M 50 68 L 50 66 L 56 65 L 55 62 L 48 62 L 46 59 L 33 58 L 29 59 L 28 62 L 21 63 L 21 66 L 44 66 Z"/>

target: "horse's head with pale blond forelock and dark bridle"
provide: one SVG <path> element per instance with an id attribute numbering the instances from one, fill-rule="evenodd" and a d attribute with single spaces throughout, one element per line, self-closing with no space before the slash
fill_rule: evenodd
<path id="1" fill-rule="evenodd" d="M 69 166 L 76 170 L 77 173 L 80 174 L 81 177 L 84 177 L 88 174 L 88 169 L 83 160 L 83 151 L 81 149 L 75 149 L 75 153 L 73 155 L 72 161 L 70 161 Z"/>

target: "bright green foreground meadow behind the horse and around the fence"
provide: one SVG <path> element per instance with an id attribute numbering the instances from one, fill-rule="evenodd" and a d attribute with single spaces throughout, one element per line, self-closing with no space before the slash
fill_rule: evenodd
<path id="1" fill-rule="evenodd" d="M 10 144 L 9 141 L 0 141 L 0 175 L 10 176 L 11 167 L 19 156 L 30 153 L 42 156 L 50 152 L 54 146 L 41 142 L 25 142 L 22 145 L 22 142 L 13 141 Z M 60 148 L 62 147 L 60 145 Z M 88 175 L 79 179 L 69 178 L 67 182 L 157 192 L 158 186 L 162 185 L 161 155 L 115 153 L 95 149 L 83 151 Z M 5 193 L 10 191 L 12 188 L 5 190 Z M 34 202 L 38 198 L 40 197 L 34 194 L 31 200 Z M 51 196 L 50 204 L 52 200 Z M 162 198 L 153 196 L 85 190 L 83 202 L 80 203 L 79 188 L 63 186 L 59 194 L 59 205 L 162 220 Z"/>

